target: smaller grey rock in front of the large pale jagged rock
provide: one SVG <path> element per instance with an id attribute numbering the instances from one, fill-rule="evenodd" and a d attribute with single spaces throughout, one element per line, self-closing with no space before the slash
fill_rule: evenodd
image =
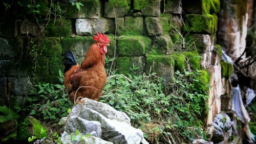
<path id="1" fill-rule="evenodd" d="M 67 133 L 75 133 L 77 130 L 82 134 L 101 137 L 101 125 L 99 122 L 87 121 L 78 116 L 70 116 L 64 127 L 64 131 Z"/>

